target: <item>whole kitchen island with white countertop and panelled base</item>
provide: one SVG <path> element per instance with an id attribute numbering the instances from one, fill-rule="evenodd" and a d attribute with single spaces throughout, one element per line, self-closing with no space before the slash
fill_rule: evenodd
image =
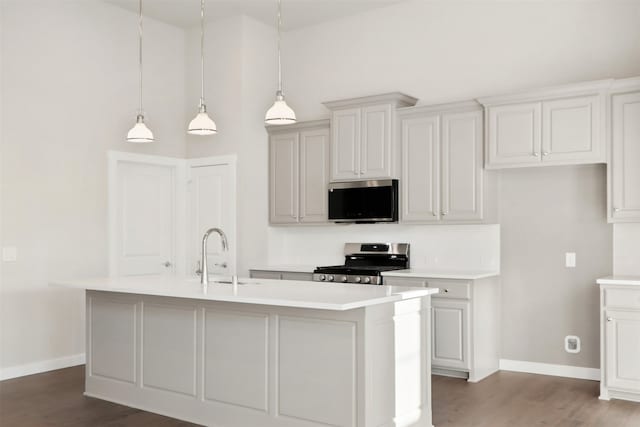
<path id="1" fill-rule="evenodd" d="M 433 288 L 127 277 L 87 290 L 86 390 L 217 427 L 431 426 Z"/>

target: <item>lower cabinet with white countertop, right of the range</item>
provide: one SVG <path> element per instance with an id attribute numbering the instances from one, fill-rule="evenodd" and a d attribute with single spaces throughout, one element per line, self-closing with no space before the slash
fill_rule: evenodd
<path id="1" fill-rule="evenodd" d="M 385 275 L 385 285 L 438 288 L 431 297 L 431 370 L 478 382 L 499 369 L 497 276 L 434 279 Z"/>

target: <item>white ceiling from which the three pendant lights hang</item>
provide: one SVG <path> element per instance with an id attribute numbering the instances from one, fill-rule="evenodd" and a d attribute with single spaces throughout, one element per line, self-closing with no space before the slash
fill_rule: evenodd
<path id="1" fill-rule="evenodd" d="M 131 11 L 138 11 L 138 0 L 104 0 Z M 284 31 L 355 15 L 405 0 L 283 0 Z M 198 0 L 145 0 L 144 15 L 168 24 L 190 28 L 200 22 Z M 206 0 L 207 21 L 247 15 L 275 26 L 276 0 Z"/>

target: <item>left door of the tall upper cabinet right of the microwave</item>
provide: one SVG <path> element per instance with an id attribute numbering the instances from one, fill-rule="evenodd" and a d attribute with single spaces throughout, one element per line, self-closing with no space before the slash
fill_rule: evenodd
<path id="1" fill-rule="evenodd" d="M 436 222 L 439 209 L 439 117 L 401 121 L 402 221 Z"/>

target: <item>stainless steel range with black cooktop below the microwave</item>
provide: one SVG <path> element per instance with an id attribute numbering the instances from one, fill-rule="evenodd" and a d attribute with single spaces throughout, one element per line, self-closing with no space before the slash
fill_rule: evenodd
<path id="1" fill-rule="evenodd" d="M 344 265 L 318 267 L 313 280 L 383 285 L 382 272 L 409 268 L 408 243 L 346 243 L 344 255 Z"/>

